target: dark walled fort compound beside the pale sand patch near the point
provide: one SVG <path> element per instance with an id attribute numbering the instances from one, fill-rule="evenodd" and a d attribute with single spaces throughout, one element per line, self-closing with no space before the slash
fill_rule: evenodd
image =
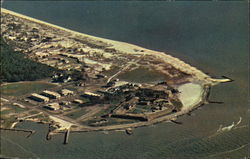
<path id="1" fill-rule="evenodd" d="M 103 92 L 106 99 L 119 101 L 117 107 L 110 112 L 111 117 L 148 121 L 179 110 L 170 100 L 177 100 L 178 92 L 173 91 L 166 83 L 142 86 L 127 82 L 117 87 L 115 85 L 116 82 L 112 81 L 111 87 Z M 134 112 L 135 110 L 137 111 Z"/>

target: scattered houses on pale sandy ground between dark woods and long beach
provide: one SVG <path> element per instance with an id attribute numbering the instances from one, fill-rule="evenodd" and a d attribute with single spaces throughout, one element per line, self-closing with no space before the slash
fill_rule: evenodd
<path id="1" fill-rule="evenodd" d="M 99 41 L 66 38 L 65 32 L 53 30 L 26 19 L 1 15 L 1 33 L 14 49 L 29 54 L 29 58 L 59 70 L 78 70 L 92 78 L 102 78 L 103 70 L 111 68 L 110 58 L 115 50 L 106 49 L 108 44 Z M 65 35 L 66 34 L 66 35 Z M 98 47 L 98 46 L 101 47 Z M 108 61 L 100 59 L 108 59 Z M 86 67 L 83 67 L 86 66 Z M 70 76 L 55 76 L 55 81 L 69 82 Z"/>

